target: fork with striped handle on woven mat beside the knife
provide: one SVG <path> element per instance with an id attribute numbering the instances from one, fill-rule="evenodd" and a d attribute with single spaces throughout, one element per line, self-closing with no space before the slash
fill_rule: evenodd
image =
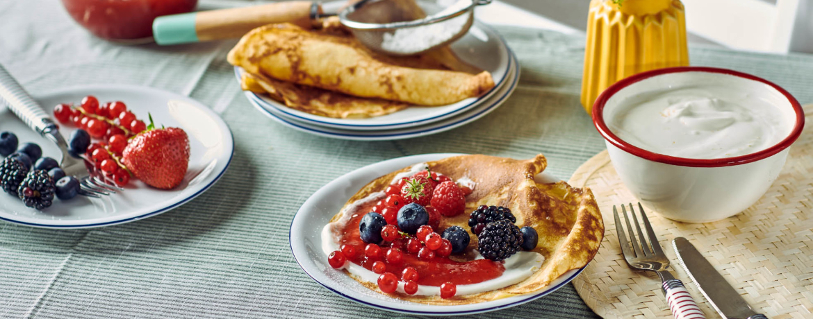
<path id="1" fill-rule="evenodd" d="M 698 304 L 694 302 L 692 295 L 683 285 L 679 279 L 675 279 L 667 270 L 669 266 L 669 259 L 663 254 L 663 249 L 658 244 L 658 237 L 652 230 L 650 219 L 646 218 L 644 207 L 638 203 L 638 209 L 641 211 L 641 219 L 644 221 L 646 227 L 646 237 L 644 232 L 641 231 L 641 224 L 638 223 L 638 218 L 635 217 L 635 209 L 633 204 L 629 204 L 630 215 L 633 216 L 633 222 L 638 233 L 638 239 L 641 244 L 638 244 L 633 234 L 633 226 L 629 222 L 629 215 L 624 205 L 621 206 L 621 211 L 624 213 L 624 220 L 627 222 L 627 230 L 629 232 L 629 241 L 633 245 L 632 250 L 627 242 L 627 235 L 624 235 L 624 225 L 621 224 L 621 219 L 618 216 L 618 209 L 615 205 L 612 206 L 612 213 L 615 217 L 615 231 L 618 231 L 618 242 L 621 246 L 621 252 L 624 252 L 624 259 L 627 264 L 633 269 L 654 271 L 661 279 L 661 289 L 663 294 L 666 295 L 667 304 L 672 310 L 672 315 L 676 319 L 705 319 Z M 646 239 L 649 238 L 649 242 Z"/>

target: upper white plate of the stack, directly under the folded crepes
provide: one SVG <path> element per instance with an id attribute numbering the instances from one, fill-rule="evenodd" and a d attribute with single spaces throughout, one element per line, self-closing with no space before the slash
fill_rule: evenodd
<path id="1" fill-rule="evenodd" d="M 376 116 L 369 119 L 333 119 L 320 115 L 309 114 L 293 110 L 266 94 L 246 92 L 246 95 L 256 97 L 260 105 L 276 109 L 302 123 L 309 123 L 322 127 L 333 127 L 352 130 L 382 130 L 402 127 L 415 127 L 426 123 L 433 123 L 447 119 L 455 114 L 471 110 L 483 101 L 492 97 L 508 78 L 511 64 L 511 52 L 499 33 L 493 28 L 475 22 L 469 32 L 450 45 L 454 53 L 464 62 L 489 71 L 494 80 L 494 88 L 480 97 L 470 97 L 448 106 L 409 107 L 393 114 Z M 235 67 L 237 80 L 240 80 L 241 69 Z"/>

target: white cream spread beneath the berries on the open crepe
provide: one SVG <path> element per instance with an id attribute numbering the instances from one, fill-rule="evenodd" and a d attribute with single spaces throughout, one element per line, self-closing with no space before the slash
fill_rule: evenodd
<path id="1" fill-rule="evenodd" d="M 415 171 L 415 173 L 418 171 L 420 170 Z M 406 175 L 403 177 L 409 176 L 411 175 Z M 384 197 L 384 192 L 374 192 L 361 200 L 357 200 L 341 210 L 341 217 L 336 222 L 331 222 L 325 225 L 324 228 L 322 228 L 322 251 L 324 252 L 325 256 L 329 255 L 331 252 L 339 250 L 339 236 L 337 235 L 337 230 L 343 229 L 346 223 L 350 221 L 350 218 L 353 218 L 355 214 L 358 213 L 357 210 L 359 206 L 372 201 L 380 200 Z M 472 240 L 476 240 L 476 238 L 472 238 Z M 475 259 L 481 258 L 482 256 L 480 256 L 478 253 Z M 498 278 L 468 285 L 458 285 L 457 295 L 472 295 L 485 291 L 493 291 L 522 282 L 540 269 L 542 262 L 544 261 L 545 256 L 542 256 L 538 252 L 517 252 L 504 261 L 503 266 L 505 267 L 505 271 Z M 361 265 L 356 265 L 350 261 L 345 264 L 344 269 L 350 272 L 350 274 L 353 274 L 356 278 L 359 278 L 365 282 L 376 283 L 378 281 L 379 274 L 376 274 L 371 270 L 366 269 Z M 406 293 L 403 289 L 403 285 L 403 282 L 398 282 L 398 292 Z M 415 295 L 441 295 L 441 288 L 418 285 L 418 292 L 416 292 Z"/>

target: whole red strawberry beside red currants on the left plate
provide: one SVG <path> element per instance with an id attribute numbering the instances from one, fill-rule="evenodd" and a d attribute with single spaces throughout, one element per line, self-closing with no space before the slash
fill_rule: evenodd
<path id="1" fill-rule="evenodd" d="M 189 136 L 177 127 L 156 129 L 150 116 L 150 126 L 130 140 L 122 162 L 147 185 L 175 188 L 189 166 Z"/>

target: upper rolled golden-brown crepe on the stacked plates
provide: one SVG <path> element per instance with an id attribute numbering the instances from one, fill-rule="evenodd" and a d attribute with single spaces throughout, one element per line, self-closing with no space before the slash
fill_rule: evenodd
<path id="1" fill-rule="evenodd" d="M 293 24 L 255 28 L 228 53 L 229 63 L 252 75 L 419 106 L 452 104 L 494 86 L 486 71 L 472 75 L 407 67 L 393 60 L 372 53 L 353 37 Z"/>

